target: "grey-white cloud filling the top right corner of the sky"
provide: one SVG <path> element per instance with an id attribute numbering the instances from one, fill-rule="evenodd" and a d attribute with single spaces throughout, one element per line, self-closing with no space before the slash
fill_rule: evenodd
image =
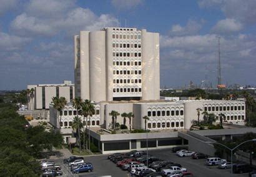
<path id="1" fill-rule="evenodd" d="M 242 24 L 253 25 L 256 22 L 255 0 L 200 0 L 198 4 L 201 8 L 220 8 L 227 19 L 235 19 Z"/>

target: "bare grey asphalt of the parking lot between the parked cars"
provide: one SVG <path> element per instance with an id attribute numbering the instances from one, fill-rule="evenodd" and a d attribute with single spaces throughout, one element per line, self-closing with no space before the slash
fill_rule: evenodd
<path id="1" fill-rule="evenodd" d="M 194 160 L 191 157 L 177 157 L 175 153 L 172 153 L 170 148 L 164 150 L 150 150 L 149 154 L 164 160 L 180 163 L 182 167 L 187 168 L 188 171 L 191 171 L 195 177 L 248 176 L 248 173 L 232 175 L 230 173 L 230 169 L 220 170 L 217 168 L 217 166 L 207 166 L 205 165 L 205 159 Z M 84 157 L 84 159 L 85 161 L 92 163 L 94 166 L 94 171 L 90 173 L 80 173 L 79 175 L 73 175 L 72 173 L 67 173 L 67 170 L 65 170 L 66 167 L 63 166 L 64 164 L 62 163 L 62 159 L 56 160 L 56 163 L 61 164 L 62 171 L 64 172 L 63 176 L 130 176 L 127 171 L 121 170 L 121 168 L 118 168 L 116 164 L 112 163 L 112 161 L 107 160 L 107 155 Z"/>

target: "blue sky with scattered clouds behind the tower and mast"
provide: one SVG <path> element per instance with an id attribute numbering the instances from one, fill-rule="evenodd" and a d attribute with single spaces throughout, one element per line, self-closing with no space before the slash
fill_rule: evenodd
<path id="1" fill-rule="evenodd" d="M 74 81 L 80 30 L 136 27 L 160 35 L 160 86 L 256 76 L 255 0 L 0 0 L 0 90 Z"/>

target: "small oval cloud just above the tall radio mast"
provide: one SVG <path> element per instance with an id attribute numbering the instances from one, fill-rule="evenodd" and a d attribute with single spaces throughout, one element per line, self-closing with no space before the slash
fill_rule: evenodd
<path id="1" fill-rule="evenodd" d="M 243 29 L 243 25 L 235 19 L 219 20 L 217 24 L 212 27 L 212 32 L 217 34 L 229 34 L 232 32 L 239 32 Z"/>

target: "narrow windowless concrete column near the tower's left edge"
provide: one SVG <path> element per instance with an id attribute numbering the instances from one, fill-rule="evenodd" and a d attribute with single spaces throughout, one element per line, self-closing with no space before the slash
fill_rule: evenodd
<path id="1" fill-rule="evenodd" d="M 80 31 L 80 81 L 81 99 L 90 99 L 89 95 L 89 32 Z"/>

